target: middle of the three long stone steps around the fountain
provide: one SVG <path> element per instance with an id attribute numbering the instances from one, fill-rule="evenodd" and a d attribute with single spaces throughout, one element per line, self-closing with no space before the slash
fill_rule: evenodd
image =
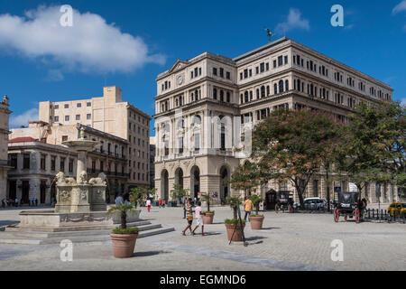
<path id="1" fill-rule="evenodd" d="M 138 225 L 140 231 L 145 231 L 154 228 L 161 228 L 161 224 L 151 224 L 151 222 L 145 222 L 148 224 Z M 7 230 L 0 234 L 0 237 L 7 238 L 63 238 L 63 237 L 76 237 L 76 236 L 96 236 L 96 235 L 108 235 L 111 229 L 102 230 L 88 230 L 88 231 L 62 231 L 62 232 L 40 232 L 40 231 L 24 231 L 24 230 Z"/>

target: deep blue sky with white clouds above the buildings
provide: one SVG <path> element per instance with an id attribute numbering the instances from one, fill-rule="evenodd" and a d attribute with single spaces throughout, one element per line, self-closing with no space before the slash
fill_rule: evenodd
<path id="1" fill-rule="evenodd" d="M 330 23 L 337 4 L 344 27 Z M 72 27 L 60 26 L 61 5 L 75 10 Z M 105 84 L 152 115 L 155 77 L 176 60 L 235 57 L 267 42 L 264 27 L 283 36 L 282 23 L 286 36 L 406 98 L 406 0 L 0 0 L 0 94 L 10 98 L 11 126 L 35 120 L 39 101 L 101 97 Z"/>

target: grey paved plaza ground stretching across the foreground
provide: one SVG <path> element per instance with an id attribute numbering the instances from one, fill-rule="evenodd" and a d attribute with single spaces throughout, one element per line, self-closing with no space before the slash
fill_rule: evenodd
<path id="1" fill-rule="evenodd" d="M 134 257 L 115 259 L 111 242 L 74 244 L 73 261 L 60 260 L 61 247 L 0 245 L 1 270 L 405 270 L 406 224 L 387 222 L 335 223 L 329 214 L 265 213 L 263 230 L 248 224 L 249 246 L 228 245 L 224 219 L 228 207 L 215 207 L 207 236 L 181 236 L 186 227 L 180 208 L 143 208 L 142 219 L 176 228 L 174 232 L 140 238 Z M 20 210 L 0 210 L 0 227 L 18 221 Z M 0 232 L 1 234 L 1 232 Z M 341 240 L 344 260 L 332 261 L 331 247 Z"/>

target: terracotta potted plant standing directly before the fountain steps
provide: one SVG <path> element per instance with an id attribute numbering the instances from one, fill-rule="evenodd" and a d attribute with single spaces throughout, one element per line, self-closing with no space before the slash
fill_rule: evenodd
<path id="1" fill-rule="evenodd" d="M 110 234 L 116 258 L 133 256 L 135 241 L 138 238 L 138 228 L 127 228 L 127 210 L 134 210 L 134 205 L 122 203 L 120 206 L 111 207 L 107 212 L 111 214 L 118 211 L 121 214 L 121 226 L 113 229 L 113 232 Z"/>

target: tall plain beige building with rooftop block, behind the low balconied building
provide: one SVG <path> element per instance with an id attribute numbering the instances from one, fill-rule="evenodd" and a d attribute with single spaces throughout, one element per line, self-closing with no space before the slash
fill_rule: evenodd
<path id="1" fill-rule="evenodd" d="M 125 138 L 128 140 L 125 152 L 127 187 L 149 186 L 151 117 L 123 101 L 121 89 L 106 87 L 102 98 L 40 102 L 39 115 L 40 121 L 51 126 L 72 126 L 79 123 Z"/>

